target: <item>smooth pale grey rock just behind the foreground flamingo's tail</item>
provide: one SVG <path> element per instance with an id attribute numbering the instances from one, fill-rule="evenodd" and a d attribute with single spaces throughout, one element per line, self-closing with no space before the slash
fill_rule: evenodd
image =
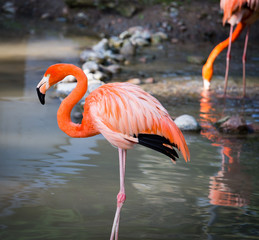
<path id="1" fill-rule="evenodd" d="M 200 131 L 201 126 L 193 116 L 184 114 L 174 120 L 182 131 Z"/>

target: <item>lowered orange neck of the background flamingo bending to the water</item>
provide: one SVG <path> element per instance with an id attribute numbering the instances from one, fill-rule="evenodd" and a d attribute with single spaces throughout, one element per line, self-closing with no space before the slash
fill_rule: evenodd
<path id="1" fill-rule="evenodd" d="M 238 23 L 235 31 L 233 32 L 232 35 L 232 40 L 231 42 L 234 42 L 238 36 L 241 34 L 242 30 L 245 28 L 246 24 L 245 23 Z M 204 69 L 208 69 L 210 71 L 213 71 L 213 64 L 217 56 L 229 45 L 229 38 L 224 40 L 223 42 L 219 43 L 210 53 L 206 63 L 204 64 Z M 205 73 L 203 73 L 204 75 Z M 212 76 L 211 76 L 212 77 Z M 210 80 L 210 79 L 209 79 Z"/>

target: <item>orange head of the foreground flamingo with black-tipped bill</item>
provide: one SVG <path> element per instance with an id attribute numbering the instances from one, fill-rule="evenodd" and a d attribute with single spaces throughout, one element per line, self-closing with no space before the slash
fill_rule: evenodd
<path id="1" fill-rule="evenodd" d="M 51 65 L 45 72 L 43 78 L 37 85 L 37 93 L 41 104 L 45 104 L 45 94 L 51 86 L 55 85 L 62 79 L 64 79 L 67 74 L 67 69 L 71 64 L 54 64 Z"/>

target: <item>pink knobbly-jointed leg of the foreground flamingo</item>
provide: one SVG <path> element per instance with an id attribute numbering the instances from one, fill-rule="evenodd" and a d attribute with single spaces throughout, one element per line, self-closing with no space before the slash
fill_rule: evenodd
<path id="1" fill-rule="evenodd" d="M 112 232 L 110 240 L 114 237 L 117 240 L 119 235 L 120 211 L 123 203 L 126 200 L 124 178 L 125 178 L 125 163 L 126 163 L 126 150 L 119 148 L 119 164 L 120 164 L 120 191 L 117 195 L 117 209 L 113 220 Z"/>

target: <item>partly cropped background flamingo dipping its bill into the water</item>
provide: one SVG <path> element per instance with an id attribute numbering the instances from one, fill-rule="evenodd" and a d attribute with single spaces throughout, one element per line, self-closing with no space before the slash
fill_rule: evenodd
<path id="1" fill-rule="evenodd" d="M 224 11 L 223 25 L 226 22 L 230 24 L 229 38 L 225 41 L 219 43 L 210 53 L 207 62 L 202 68 L 203 84 L 204 89 L 210 88 L 211 78 L 213 76 L 213 64 L 216 57 L 228 47 L 227 57 L 226 57 L 226 73 L 225 73 L 225 85 L 224 85 L 224 95 L 227 91 L 227 81 L 228 81 L 228 71 L 229 71 L 229 61 L 230 61 L 230 51 L 231 43 L 234 42 L 242 30 L 247 27 L 244 52 L 243 52 L 243 96 L 245 96 L 245 62 L 246 62 L 246 50 L 248 44 L 249 27 L 259 18 L 259 0 L 221 0 L 220 7 Z M 237 24 L 235 31 L 233 32 L 234 25 Z"/>

